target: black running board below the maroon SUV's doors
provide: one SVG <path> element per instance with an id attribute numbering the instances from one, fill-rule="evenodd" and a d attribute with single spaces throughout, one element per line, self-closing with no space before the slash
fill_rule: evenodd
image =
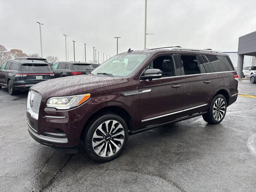
<path id="1" fill-rule="evenodd" d="M 164 125 L 164 124 L 175 123 L 175 122 L 183 121 L 183 120 L 190 119 L 190 118 L 193 118 L 193 117 L 197 117 L 197 116 L 200 116 L 200 115 L 205 114 L 205 113 L 207 113 L 207 112 L 200 112 L 200 113 L 196 113 L 194 115 L 178 118 L 178 119 L 175 119 L 175 120 L 172 120 L 172 121 L 168 121 L 168 122 L 164 122 L 164 123 L 160 123 L 160 124 L 155 124 L 155 125 L 150 125 L 150 126 L 147 126 L 147 127 L 141 128 L 141 129 L 130 131 L 129 135 L 134 135 L 134 134 L 137 134 L 137 133 L 148 131 L 148 130 L 157 128 L 157 127 L 159 127 L 161 125 Z"/>

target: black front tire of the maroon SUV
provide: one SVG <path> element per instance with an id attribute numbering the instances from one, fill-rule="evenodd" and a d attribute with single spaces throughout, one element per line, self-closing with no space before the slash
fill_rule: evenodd
<path id="1" fill-rule="evenodd" d="M 104 122 L 109 121 L 109 120 L 110 120 L 110 122 L 108 123 L 108 129 L 107 129 L 106 126 L 104 126 L 104 125 L 106 125 L 106 124 L 104 124 Z M 112 126 L 111 122 L 112 122 L 112 124 L 114 122 L 117 122 L 114 124 L 115 128 L 113 128 L 113 129 L 111 128 L 111 126 Z M 119 125 L 120 125 L 120 128 L 118 128 Z M 100 136 L 100 137 L 104 136 L 104 134 L 102 132 L 99 132 L 98 128 L 101 128 L 101 130 L 103 130 L 104 133 L 106 134 L 106 136 L 104 138 L 95 138 L 94 137 L 96 133 L 97 133 L 96 134 L 97 136 Z M 115 139 L 114 137 L 117 137 L 114 135 L 116 133 L 119 134 L 120 131 L 124 134 L 124 135 L 121 135 L 122 142 L 114 140 Z M 111 134 L 112 134 L 112 136 L 111 136 Z M 124 121 L 124 119 L 122 117 L 118 116 L 117 114 L 105 113 L 105 114 L 102 114 L 101 116 L 99 116 L 98 118 L 95 118 L 94 120 L 92 120 L 92 122 L 88 126 L 88 130 L 83 133 L 83 135 L 82 135 L 82 150 L 96 162 L 108 162 L 108 161 L 111 161 L 111 160 L 117 158 L 120 155 L 120 153 L 124 149 L 124 146 L 126 145 L 127 138 L 128 138 L 128 127 L 127 127 L 127 124 Z M 102 142 L 102 140 L 104 140 L 104 141 Z M 98 141 L 98 145 L 96 144 L 97 141 Z M 93 142 L 96 144 L 96 146 L 94 146 L 94 147 L 93 147 Z M 118 143 L 118 147 L 119 147 L 119 145 L 120 145 L 120 147 L 115 148 L 115 146 L 112 144 L 113 142 Z M 110 148 L 112 151 L 112 155 L 110 152 Z M 98 153 L 96 153 L 97 150 L 98 150 Z M 106 153 L 106 151 L 107 151 L 107 153 Z"/>

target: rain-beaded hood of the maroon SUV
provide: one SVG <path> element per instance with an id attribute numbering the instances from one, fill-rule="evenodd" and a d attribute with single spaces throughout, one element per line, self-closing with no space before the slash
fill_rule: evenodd
<path id="1" fill-rule="evenodd" d="M 116 84 L 123 78 L 96 76 L 96 75 L 76 75 L 61 77 L 40 82 L 31 87 L 32 90 L 39 92 L 42 99 L 52 96 L 68 96 L 91 92 L 94 89 L 105 87 L 106 85 Z"/>

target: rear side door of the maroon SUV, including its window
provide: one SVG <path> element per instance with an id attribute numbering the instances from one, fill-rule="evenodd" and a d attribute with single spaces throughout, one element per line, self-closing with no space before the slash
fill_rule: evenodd
<path id="1" fill-rule="evenodd" d="M 185 115 L 206 111 L 214 91 L 212 74 L 206 73 L 197 54 L 181 54 L 178 59 L 183 66 Z"/>

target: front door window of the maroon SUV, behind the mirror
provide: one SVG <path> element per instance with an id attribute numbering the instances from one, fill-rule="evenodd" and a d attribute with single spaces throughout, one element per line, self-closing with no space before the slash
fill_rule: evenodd
<path id="1" fill-rule="evenodd" d="M 162 77 L 172 77 L 176 74 L 174 62 L 170 55 L 155 58 L 146 69 L 160 69 Z"/>

